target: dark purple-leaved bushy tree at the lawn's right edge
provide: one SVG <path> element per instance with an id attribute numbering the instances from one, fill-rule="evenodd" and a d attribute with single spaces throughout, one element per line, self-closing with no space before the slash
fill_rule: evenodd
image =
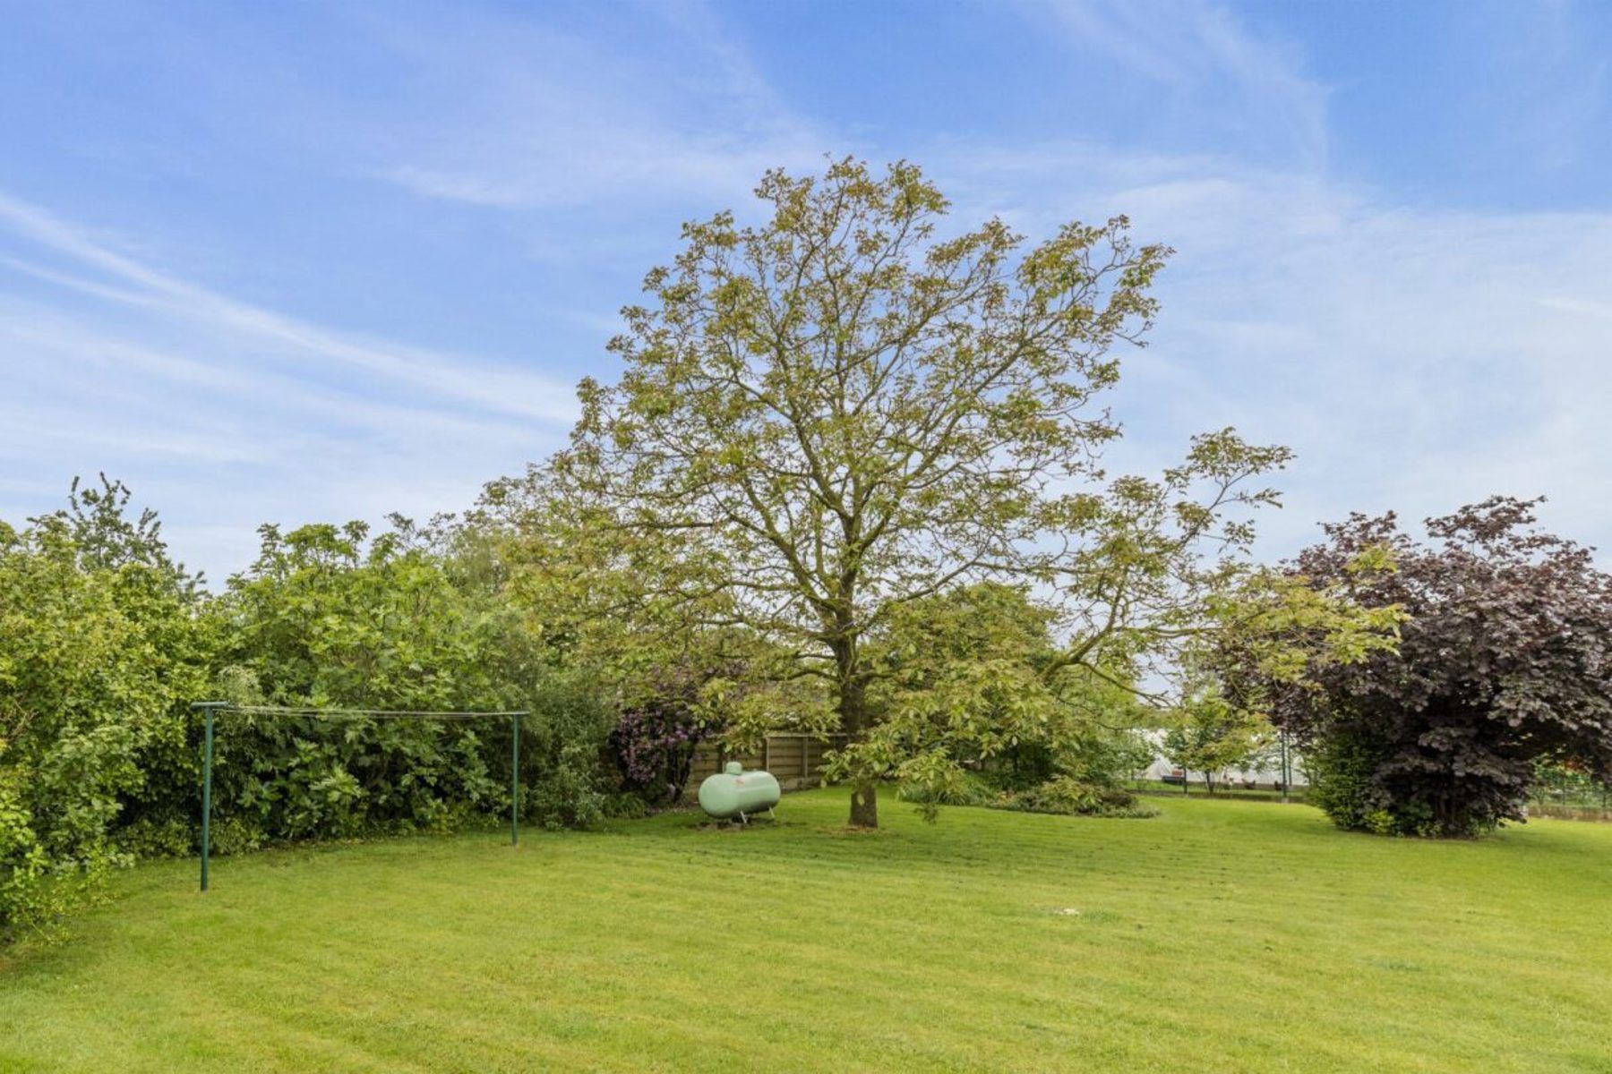
<path id="1" fill-rule="evenodd" d="M 1351 515 L 1293 564 L 1407 615 L 1396 652 L 1264 691 L 1306 747 L 1314 800 L 1344 828 L 1472 836 L 1522 818 L 1536 762 L 1612 768 L 1612 576 L 1541 533 L 1536 502 L 1496 496 L 1430 518 L 1430 543 L 1393 514 Z M 1372 547 L 1398 568 L 1354 570 Z"/>

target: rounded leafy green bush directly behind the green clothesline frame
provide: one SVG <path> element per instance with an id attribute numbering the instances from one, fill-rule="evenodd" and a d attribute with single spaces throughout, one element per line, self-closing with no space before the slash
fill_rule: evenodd
<path id="1" fill-rule="evenodd" d="M 219 601 L 234 662 L 221 689 L 276 705 L 529 708 L 527 812 L 593 823 L 608 792 L 604 708 L 430 541 L 405 520 L 372 541 L 356 522 L 264 527 L 258 560 Z M 247 844 L 451 829 L 508 812 L 508 757 L 503 720 L 240 713 L 219 725 L 214 792 Z"/>

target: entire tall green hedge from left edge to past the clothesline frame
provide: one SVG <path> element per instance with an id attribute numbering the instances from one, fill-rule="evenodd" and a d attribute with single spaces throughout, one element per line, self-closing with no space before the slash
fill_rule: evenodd
<path id="1" fill-rule="evenodd" d="M 0 939 L 48 929 L 113 866 L 189 853 L 189 705 L 530 710 L 522 810 L 588 824 L 614 800 L 614 710 L 532 610 L 403 520 L 261 531 L 219 593 L 168 557 L 121 485 L 0 523 Z M 214 849 L 447 829 L 509 808 L 509 723 L 229 713 Z"/>

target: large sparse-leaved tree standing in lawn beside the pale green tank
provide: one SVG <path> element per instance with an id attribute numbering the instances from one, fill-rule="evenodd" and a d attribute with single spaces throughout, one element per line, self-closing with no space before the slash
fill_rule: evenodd
<path id="1" fill-rule="evenodd" d="M 1244 483 L 1286 452 L 1224 430 L 1161 478 L 1104 475 L 1111 351 L 1148 328 L 1169 254 L 1124 217 L 1030 248 L 999 219 L 941 230 L 917 167 L 851 159 L 756 193 L 754 225 L 683 227 L 611 341 L 619 383 L 584 382 L 571 448 L 532 480 L 566 489 L 572 552 L 616 541 L 604 559 L 653 565 L 643 585 L 827 684 L 851 823 L 874 826 L 891 765 L 869 746 L 864 641 L 896 609 L 1030 583 L 1062 609 L 1049 675 L 1128 670 L 1191 630 L 1219 554 L 1251 538 L 1227 512 L 1269 502 Z"/>

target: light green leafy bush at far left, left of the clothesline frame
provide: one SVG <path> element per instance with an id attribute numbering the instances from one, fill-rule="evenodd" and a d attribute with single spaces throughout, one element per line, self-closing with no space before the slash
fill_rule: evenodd
<path id="1" fill-rule="evenodd" d="M 210 634 L 193 580 L 126 502 L 103 480 L 0 523 L 0 936 L 48 927 L 132 860 L 123 831 L 185 771 Z"/>

